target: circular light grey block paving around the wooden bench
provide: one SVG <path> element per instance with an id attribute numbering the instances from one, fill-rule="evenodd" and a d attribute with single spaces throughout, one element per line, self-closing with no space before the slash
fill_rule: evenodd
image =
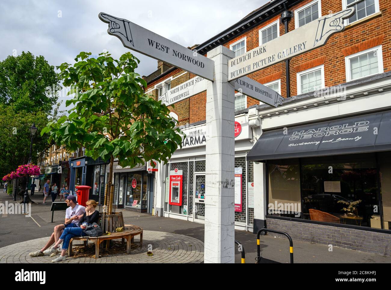
<path id="1" fill-rule="evenodd" d="M 134 244 L 139 244 L 140 236 L 136 236 Z M 0 263 L 51 263 L 48 255 L 30 257 L 29 253 L 40 249 L 48 238 L 28 240 L 0 248 Z M 74 241 L 74 246 L 82 242 Z M 152 248 L 153 256 L 147 251 Z M 89 257 L 67 257 L 59 263 L 202 263 L 204 262 L 204 243 L 193 237 L 177 233 L 143 231 L 143 247 L 132 249 L 119 255 L 103 256 L 99 259 Z"/>

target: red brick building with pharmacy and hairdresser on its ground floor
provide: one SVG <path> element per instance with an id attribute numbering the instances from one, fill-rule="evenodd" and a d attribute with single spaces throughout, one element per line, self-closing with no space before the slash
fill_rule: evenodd
<path id="1" fill-rule="evenodd" d="M 239 56 L 322 16 L 355 8 L 344 31 L 324 46 L 248 75 L 279 92 L 282 106 L 235 94 L 235 124 L 242 128 L 235 137 L 235 171 L 242 172 L 236 228 L 257 232 L 266 226 L 295 239 L 391 255 L 390 6 L 386 0 L 273 0 L 191 48 L 206 56 L 222 45 Z M 145 77 L 146 92 L 157 98 L 193 77 L 158 62 L 158 70 Z M 207 136 L 205 107 L 203 92 L 171 112 L 196 138 Z M 160 215 L 202 222 L 204 156 L 201 144 L 185 147 L 163 167 L 154 201 Z M 184 176 L 181 207 L 169 205 L 159 185 L 174 169 Z"/>

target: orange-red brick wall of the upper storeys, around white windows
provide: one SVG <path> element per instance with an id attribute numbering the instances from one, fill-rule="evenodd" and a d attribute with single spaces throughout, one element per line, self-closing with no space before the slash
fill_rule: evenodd
<path id="1" fill-rule="evenodd" d="M 289 9 L 293 14 L 288 24 L 289 32 L 295 29 L 294 11 L 309 2 L 311 2 L 311 0 L 303 1 Z M 290 60 L 289 74 L 291 96 L 297 95 L 296 73 L 299 72 L 297 70 L 302 71 L 303 68 L 311 68 L 319 64 L 324 65 L 325 86 L 329 87 L 345 83 L 346 73 L 344 58 L 347 51 L 362 51 L 366 48 L 370 48 L 370 46 L 373 47 L 380 43 L 382 44 L 383 50 L 384 71 L 386 72 L 391 70 L 391 35 L 389 34 L 389 31 L 391 31 L 391 2 L 387 0 L 379 0 L 379 6 L 381 15 L 369 18 L 361 23 L 353 24 L 352 26 L 348 26 L 344 32 L 332 35 L 325 46 L 297 57 L 293 57 Z M 329 14 L 329 12 L 338 12 L 341 10 L 342 0 L 321 0 L 322 16 Z M 246 37 L 246 50 L 252 50 L 259 46 L 259 30 L 279 18 L 280 16 L 275 16 L 274 18 L 260 24 L 258 27 L 235 37 L 235 39 L 232 39 L 223 45 L 230 48 L 230 44 Z M 279 22 L 279 32 L 280 36 L 285 33 L 285 27 L 281 22 Z M 364 44 L 361 44 L 361 42 L 364 42 Z M 183 73 L 183 71 L 181 69 L 177 69 L 164 78 L 161 78 L 161 80 L 150 83 L 148 87 L 152 87 L 170 76 L 180 73 Z M 189 78 L 193 78 L 194 76 L 194 74 L 190 74 Z M 271 67 L 267 67 L 256 73 L 249 74 L 248 77 L 259 81 L 260 83 L 267 83 L 281 79 L 281 94 L 284 97 L 287 95 L 285 62 L 272 65 Z M 190 106 L 190 123 L 205 119 L 206 95 L 204 93 L 191 97 L 188 104 Z M 259 104 L 259 101 L 250 97 L 247 98 L 247 107 L 255 104 Z"/>

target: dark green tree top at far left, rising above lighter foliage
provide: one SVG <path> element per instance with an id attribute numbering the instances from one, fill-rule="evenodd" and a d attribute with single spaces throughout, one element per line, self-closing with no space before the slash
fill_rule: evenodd
<path id="1" fill-rule="evenodd" d="M 54 66 L 43 56 L 34 57 L 24 51 L 0 62 L 0 103 L 12 105 L 16 111 L 48 114 L 61 90 Z"/>

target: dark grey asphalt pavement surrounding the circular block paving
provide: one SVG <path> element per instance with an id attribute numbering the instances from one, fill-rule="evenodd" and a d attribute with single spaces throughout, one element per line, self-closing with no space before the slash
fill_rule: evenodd
<path id="1" fill-rule="evenodd" d="M 34 201 L 42 202 L 41 194 L 35 194 Z M 0 194 L 0 202 L 5 200 L 12 202 L 12 197 Z M 25 217 L 18 214 L 9 214 L 7 217 L 0 217 L 0 250 L 2 247 L 19 244 L 23 241 L 35 240 L 48 237 L 53 227 L 63 223 L 65 211 L 58 211 L 54 214 L 54 223 L 51 223 L 51 212 L 49 211 L 51 200 L 47 205 L 33 204 L 32 217 Z M 141 226 L 145 231 L 164 232 L 194 238 L 204 241 L 204 225 L 190 221 L 167 217 L 153 217 L 149 214 L 141 214 L 129 210 L 121 210 L 126 224 Z M 242 242 L 246 252 L 246 263 L 255 263 L 256 257 L 256 235 L 251 232 L 235 230 L 235 239 Z M 261 236 L 262 263 L 288 263 L 289 242 L 283 237 L 274 235 Z M 144 243 L 146 245 L 146 243 Z M 329 251 L 327 244 L 317 244 L 293 240 L 294 262 L 295 263 L 391 263 L 391 257 L 371 253 L 364 253 L 351 249 L 334 247 Z M 29 252 L 32 247 L 23 244 L 21 251 Z M 237 247 L 235 246 L 237 249 Z M 240 253 L 235 250 L 235 262 L 240 263 Z"/>

